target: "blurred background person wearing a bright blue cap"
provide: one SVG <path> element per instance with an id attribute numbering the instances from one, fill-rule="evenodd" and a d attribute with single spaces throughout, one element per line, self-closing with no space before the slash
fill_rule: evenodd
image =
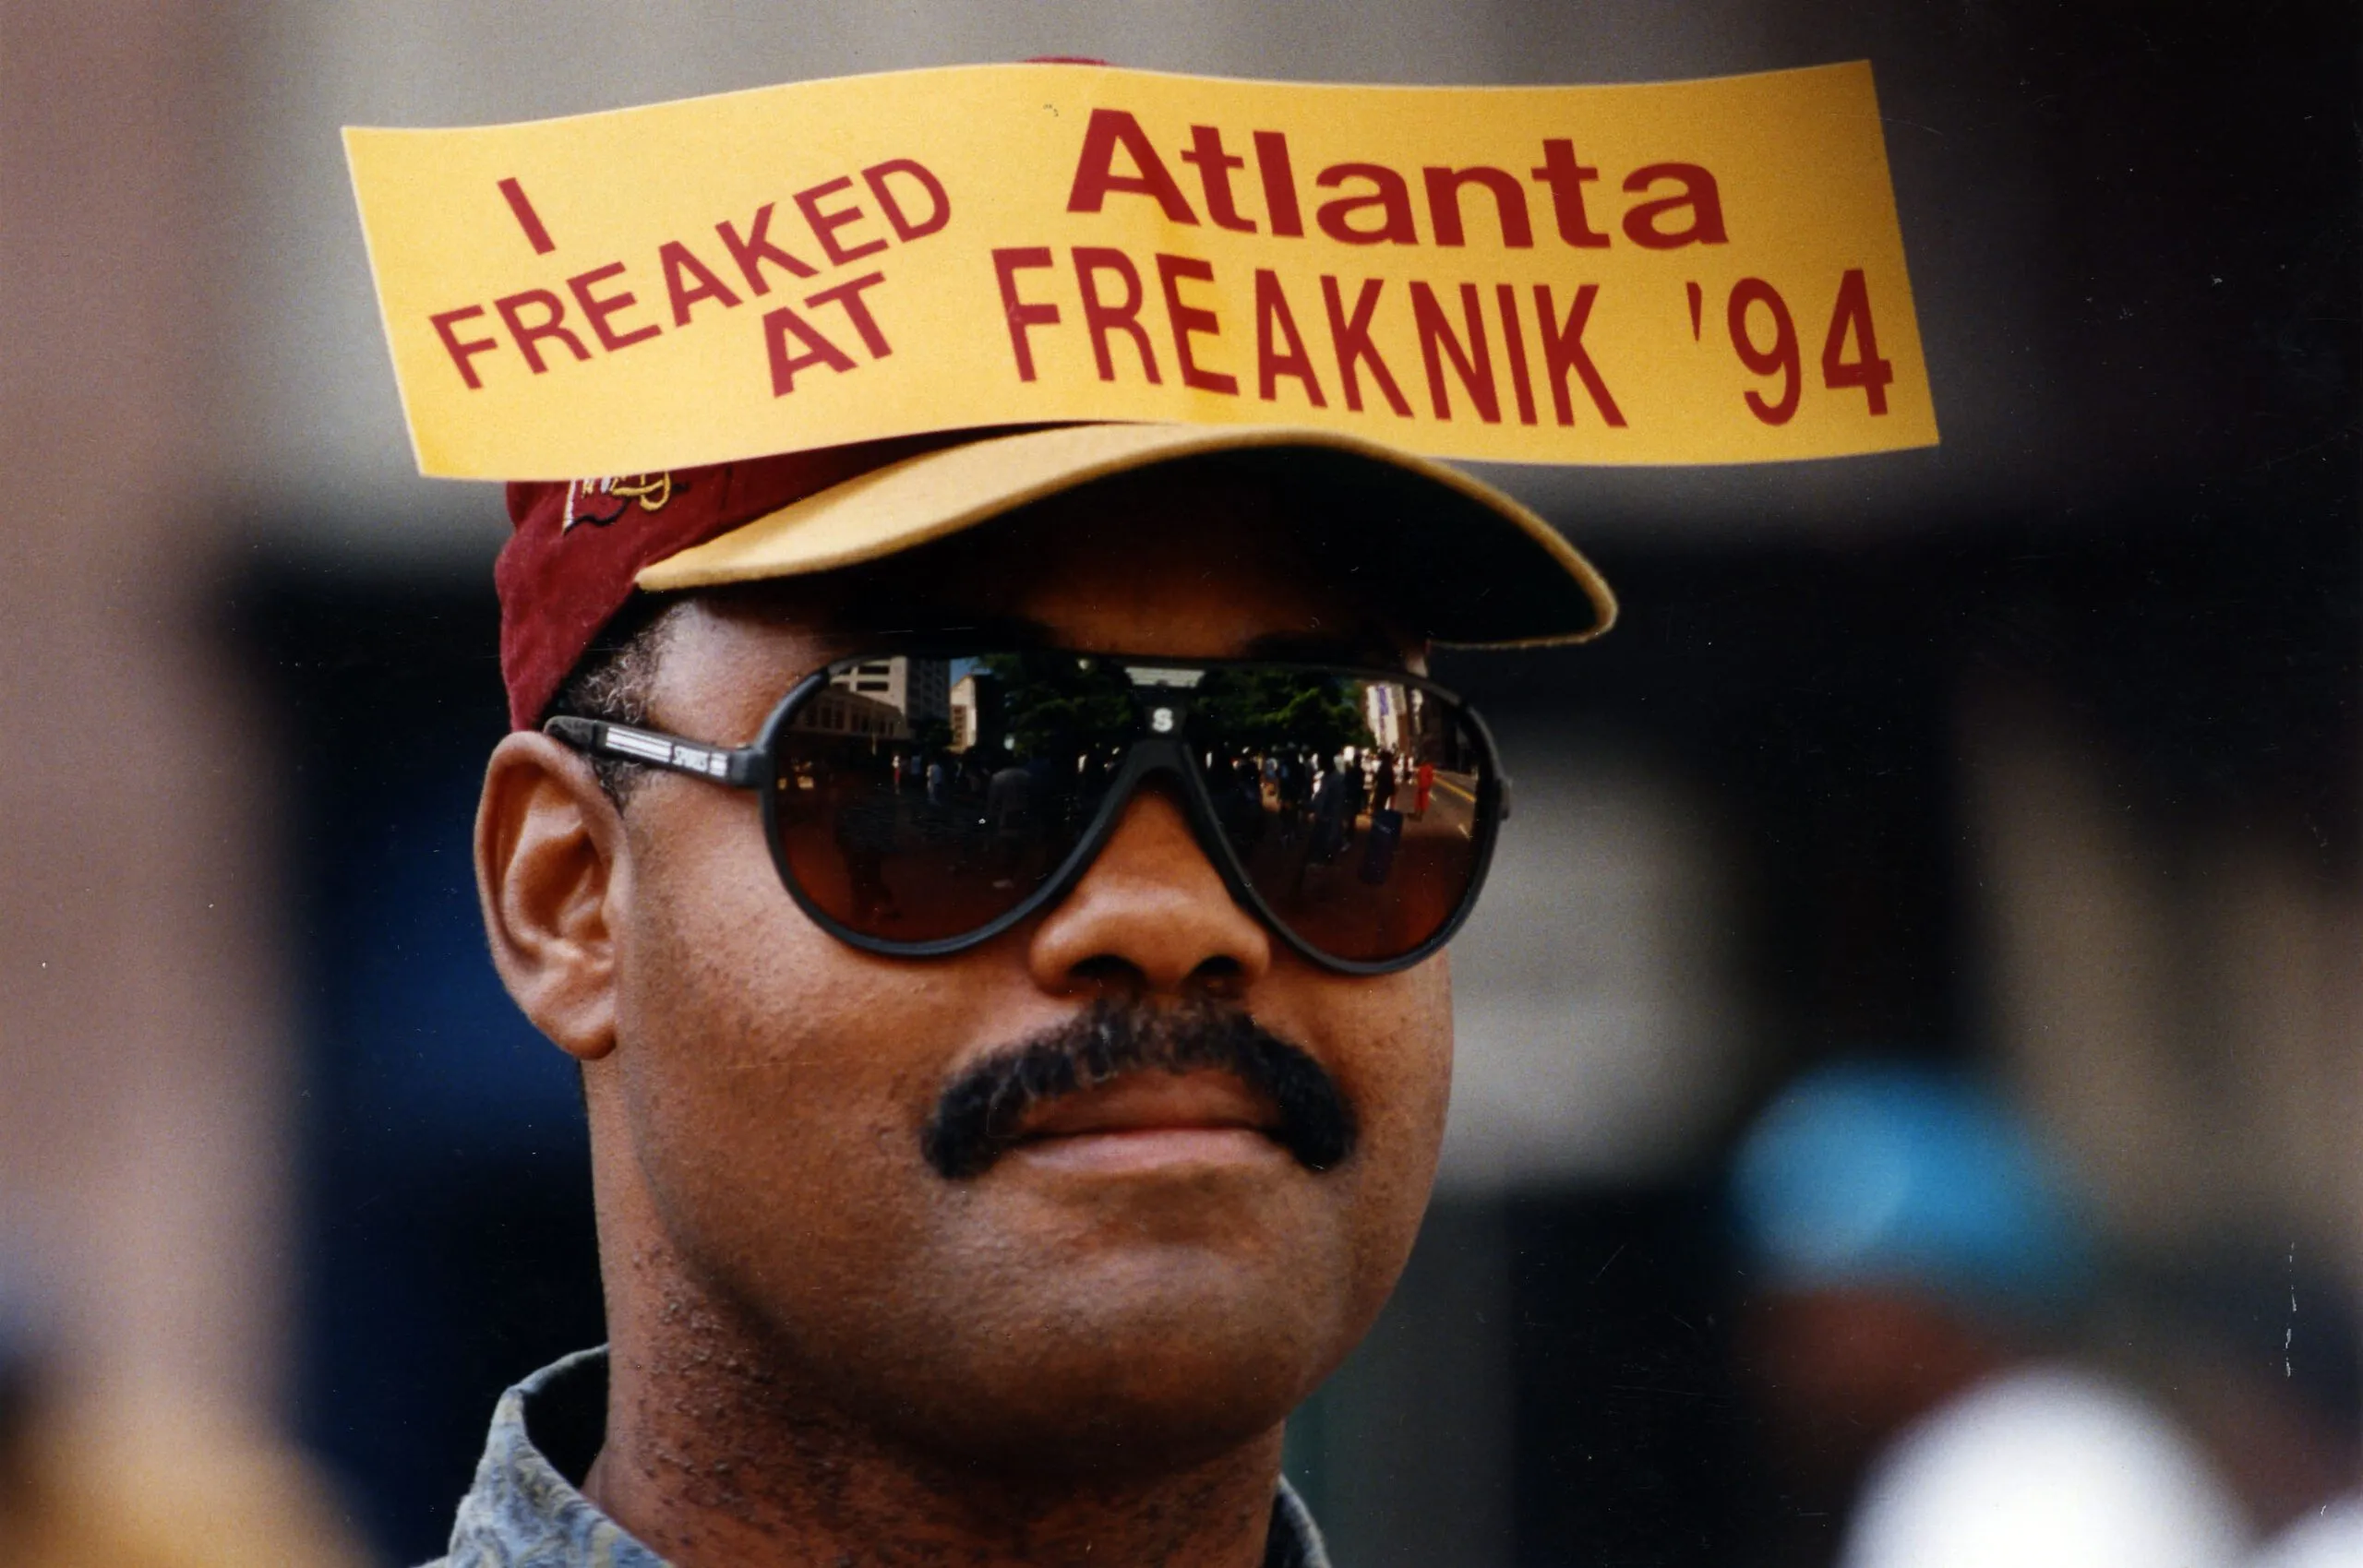
<path id="1" fill-rule="evenodd" d="M 1812 1072 L 1739 1145 L 1744 1372 L 1841 1568 L 2212 1568 L 2247 1521 L 2150 1398 L 2072 1351 L 2094 1244 L 1966 1079 Z M 1791 1561 L 1820 1544 L 1798 1530 Z"/>

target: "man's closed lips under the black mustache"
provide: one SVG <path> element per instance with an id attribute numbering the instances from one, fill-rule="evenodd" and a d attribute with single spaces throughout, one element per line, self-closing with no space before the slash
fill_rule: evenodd
<path id="1" fill-rule="evenodd" d="M 1278 1108 L 1229 1072 L 1130 1072 L 1059 1096 L 1018 1129 L 1011 1157 L 1092 1174 L 1288 1159 Z"/>

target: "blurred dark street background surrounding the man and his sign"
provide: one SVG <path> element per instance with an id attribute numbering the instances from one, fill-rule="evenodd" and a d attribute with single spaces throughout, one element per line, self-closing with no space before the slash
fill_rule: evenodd
<path id="1" fill-rule="evenodd" d="M 1867 57 L 1888 116 L 1940 449 L 1496 475 L 1628 619 L 1439 671 L 1519 817 L 1432 1223 L 1290 1433 L 1340 1563 L 1874 1561 L 1978 1433 L 2207 1561 L 2323 1521 L 2358 43 L 2330 0 L 7 0 L 0 1559 L 432 1556 L 496 1391 L 600 1337 L 572 1072 L 468 871 L 503 510 L 411 472 L 338 125 L 1047 52 Z"/>

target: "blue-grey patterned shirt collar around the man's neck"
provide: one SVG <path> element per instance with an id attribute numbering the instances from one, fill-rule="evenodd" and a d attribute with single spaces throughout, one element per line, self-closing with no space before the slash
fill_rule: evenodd
<path id="1" fill-rule="evenodd" d="M 430 1568 L 666 1568 L 581 1495 L 607 1424 L 607 1348 L 551 1363 L 501 1396 L 475 1485 Z M 1330 1568 L 1321 1530 L 1281 1481 L 1264 1568 Z"/>

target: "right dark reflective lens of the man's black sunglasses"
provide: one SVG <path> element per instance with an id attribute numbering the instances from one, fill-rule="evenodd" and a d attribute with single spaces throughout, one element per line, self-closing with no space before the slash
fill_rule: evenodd
<path id="1" fill-rule="evenodd" d="M 1444 930 L 1477 881 L 1489 751 L 1465 711 L 1397 680 L 1210 671 L 1191 741 L 1248 883 L 1297 940 L 1349 963 Z"/>

